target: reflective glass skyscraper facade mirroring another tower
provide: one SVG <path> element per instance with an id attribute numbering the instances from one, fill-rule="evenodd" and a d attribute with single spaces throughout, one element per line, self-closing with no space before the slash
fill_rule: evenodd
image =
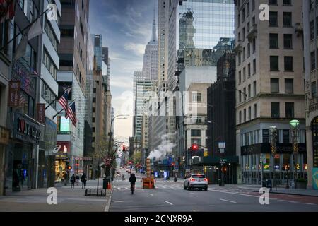
<path id="1" fill-rule="evenodd" d="M 220 38 L 234 38 L 233 0 L 179 1 L 179 50 L 213 49 Z"/>

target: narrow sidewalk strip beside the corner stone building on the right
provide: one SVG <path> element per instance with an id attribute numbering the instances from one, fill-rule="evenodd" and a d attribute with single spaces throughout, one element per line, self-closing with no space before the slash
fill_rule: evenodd
<path id="1" fill-rule="evenodd" d="M 218 185 L 215 185 L 215 184 L 210 186 L 218 187 Z M 254 192 L 259 192 L 259 189 L 261 189 L 261 185 L 259 184 L 225 184 L 224 187 L 220 187 L 220 188 L 247 189 Z M 277 191 L 276 191 L 275 187 L 273 187 L 271 191 L 269 191 L 269 193 L 318 197 L 318 190 L 314 190 L 314 189 L 285 189 L 283 187 L 277 187 Z"/>

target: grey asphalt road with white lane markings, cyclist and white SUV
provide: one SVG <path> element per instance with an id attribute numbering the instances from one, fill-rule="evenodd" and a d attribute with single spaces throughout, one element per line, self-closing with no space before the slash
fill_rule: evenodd
<path id="1" fill-rule="evenodd" d="M 124 171 L 122 171 L 123 173 Z M 110 212 L 293 212 L 318 211 L 318 197 L 269 194 L 269 205 L 261 205 L 261 194 L 235 187 L 209 186 L 208 191 L 184 190 L 178 182 L 157 179 L 155 189 L 142 189 L 142 174 L 136 174 L 136 191 L 131 194 L 129 174 L 115 179 Z"/>

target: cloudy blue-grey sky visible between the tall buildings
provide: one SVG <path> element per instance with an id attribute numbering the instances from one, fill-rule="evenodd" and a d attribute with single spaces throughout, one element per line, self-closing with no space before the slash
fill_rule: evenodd
<path id="1" fill-rule="evenodd" d="M 143 66 L 143 53 L 151 40 L 154 7 L 157 23 L 157 0 L 90 0 L 90 32 L 102 34 L 102 45 L 109 48 L 115 116 L 130 115 L 114 120 L 114 140 L 127 145 L 133 130 L 133 75 Z"/>

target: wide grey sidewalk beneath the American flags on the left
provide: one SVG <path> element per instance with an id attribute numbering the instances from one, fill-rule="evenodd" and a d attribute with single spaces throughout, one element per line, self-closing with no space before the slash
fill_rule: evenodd
<path id="1" fill-rule="evenodd" d="M 57 205 L 49 205 L 47 189 L 11 192 L 0 196 L 0 211 L 3 212 L 105 212 L 110 205 L 112 190 L 107 189 L 106 196 L 85 196 L 85 189 L 75 186 L 56 186 Z M 86 182 L 86 188 L 97 188 L 96 181 Z M 100 179 L 102 189 L 102 180 Z"/>

